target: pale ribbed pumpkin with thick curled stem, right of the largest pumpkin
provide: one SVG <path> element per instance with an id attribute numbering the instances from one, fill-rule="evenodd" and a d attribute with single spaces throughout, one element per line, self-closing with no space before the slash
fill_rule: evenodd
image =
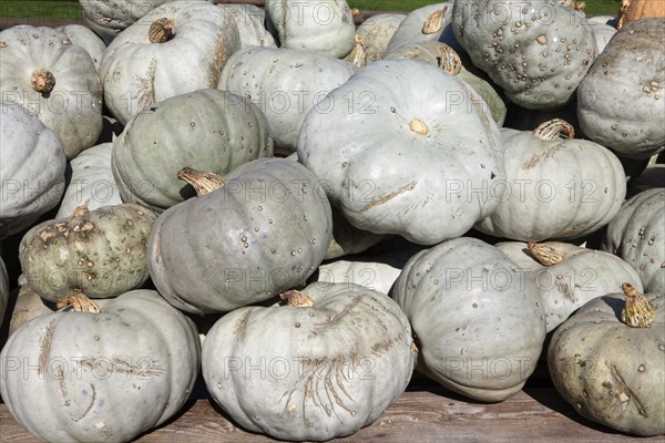
<path id="1" fill-rule="evenodd" d="M 598 230 L 618 214 L 626 178 L 612 152 L 573 138 L 572 126 L 560 120 L 533 132 L 502 128 L 501 135 L 505 189 L 497 210 L 475 225 L 478 230 L 522 241 L 572 239 Z"/>

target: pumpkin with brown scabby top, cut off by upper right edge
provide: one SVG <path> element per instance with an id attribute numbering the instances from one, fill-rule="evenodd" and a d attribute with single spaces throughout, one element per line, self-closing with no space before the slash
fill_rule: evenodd
<path id="1" fill-rule="evenodd" d="M 584 134 L 628 158 L 665 146 L 665 19 L 627 23 L 607 43 L 577 90 Z"/>

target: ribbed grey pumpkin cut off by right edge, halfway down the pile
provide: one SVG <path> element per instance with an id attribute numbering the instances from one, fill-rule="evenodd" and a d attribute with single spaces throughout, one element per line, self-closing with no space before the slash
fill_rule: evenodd
<path id="1" fill-rule="evenodd" d="M 627 261 L 647 292 L 665 293 L 665 188 L 644 190 L 610 222 L 601 249 Z"/>

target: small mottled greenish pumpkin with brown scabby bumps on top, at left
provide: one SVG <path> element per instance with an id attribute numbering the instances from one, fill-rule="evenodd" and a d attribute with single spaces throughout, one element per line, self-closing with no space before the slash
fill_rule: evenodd
<path id="1" fill-rule="evenodd" d="M 72 296 L 111 298 L 149 277 L 145 245 L 156 215 L 131 203 L 43 222 L 21 239 L 27 284 L 52 302 Z"/>

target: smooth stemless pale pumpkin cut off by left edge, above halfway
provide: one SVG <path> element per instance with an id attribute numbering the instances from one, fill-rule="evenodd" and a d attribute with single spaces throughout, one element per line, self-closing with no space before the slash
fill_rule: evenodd
<path id="1" fill-rule="evenodd" d="M 0 113 L 0 240 L 54 208 L 64 190 L 66 157 L 55 134 L 23 106 Z"/>

